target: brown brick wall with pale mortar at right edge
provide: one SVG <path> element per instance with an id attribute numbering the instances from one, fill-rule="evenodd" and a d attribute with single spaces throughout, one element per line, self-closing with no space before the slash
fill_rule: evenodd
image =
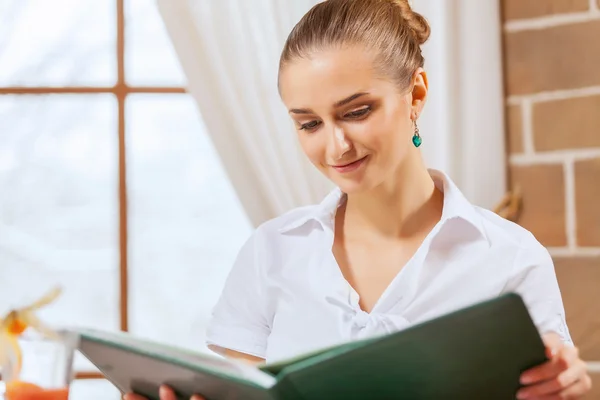
<path id="1" fill-rule="evenodd" d="M 600 0 L 502 0 L 509 182 L 600 399 Z"/>

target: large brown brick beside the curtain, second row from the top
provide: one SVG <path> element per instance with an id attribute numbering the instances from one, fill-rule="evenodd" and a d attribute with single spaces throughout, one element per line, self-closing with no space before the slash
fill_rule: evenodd
<path id="1" fill-rule="evenodd" d="M 546 29 L 507 32 L 504 40 L 509 95 L 600 84 L 600 20 Z"/>

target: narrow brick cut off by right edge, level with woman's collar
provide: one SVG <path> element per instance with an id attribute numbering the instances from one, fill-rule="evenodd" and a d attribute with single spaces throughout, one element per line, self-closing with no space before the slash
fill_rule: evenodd
<path id="1" fill-rule="evenodd" d="M 600 246 L 600 158 L 575 163 L 577 244 Z"/>

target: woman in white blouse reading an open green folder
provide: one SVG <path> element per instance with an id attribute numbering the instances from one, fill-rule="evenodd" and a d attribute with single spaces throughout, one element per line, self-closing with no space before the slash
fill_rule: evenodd
<path id="1" fill-rule="evenodd" d="M 256 230 L 214 309 L 209 347 L 273 361 L 514 291 L 551 355 L 523 374 L 519 398 L 579 398 L 591 381 L 547 251 L 423 163 L 428 36 L 406 0 L 328 0 L 291 32 L 280 94 L 304 152 L 337 189 Z M 162 388 L 160 398 L 174 396 Z"/>

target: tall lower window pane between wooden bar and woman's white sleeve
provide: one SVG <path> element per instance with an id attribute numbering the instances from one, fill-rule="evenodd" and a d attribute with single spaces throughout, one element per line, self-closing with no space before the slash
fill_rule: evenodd
<path id="1" fill-rule="evenodd" d="M 251 225 L 188 95 L 127 104 L 130 330 L 206 350 L 210 311 Z"/>

